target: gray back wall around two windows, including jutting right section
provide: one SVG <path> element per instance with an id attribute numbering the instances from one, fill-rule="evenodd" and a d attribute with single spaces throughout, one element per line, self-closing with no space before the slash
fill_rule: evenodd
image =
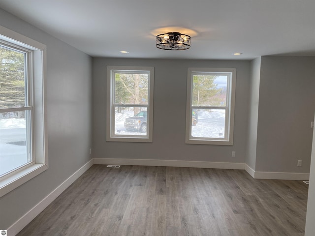
<path id="1" fill-rule="evenodd" d="M 252 61 L 94 59 L 94 157 L 245 162 L 255 171 L 309 173 L 314 57 Z M 153 143 L 106 142 L 106 66 L 154 66 Z M 236 67 L 233 146 L 185 144 L 188 67 Z M 166 115 L 167 114 L 167 115 Z M 231 151 L 236 158 L 231 158 Z M 303 161 L 297 167 L 297 160 Z"/>

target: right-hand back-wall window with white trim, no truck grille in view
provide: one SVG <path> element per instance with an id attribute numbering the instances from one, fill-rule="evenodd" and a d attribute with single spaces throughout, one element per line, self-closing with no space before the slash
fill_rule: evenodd
<path id="1" fill-rule="evenodd" d="M 236 68 L 189 68 L 186 143 L 233 145 Z"/>

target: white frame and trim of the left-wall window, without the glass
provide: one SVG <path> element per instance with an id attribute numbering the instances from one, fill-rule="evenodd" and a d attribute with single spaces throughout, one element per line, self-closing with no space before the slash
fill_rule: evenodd
<path id="1" fill-rule="evenodd" d="M 32 162 L 0 177 L 0 197 L 48 169 L 46 118 L 46 45 L 0 26 L 0 42 L 28 51 L 28 99 L 31 111 Z M 13 110 L 15 108 L 12 108 Z M 10 112 L 12 109 L 0 109 Z"/>

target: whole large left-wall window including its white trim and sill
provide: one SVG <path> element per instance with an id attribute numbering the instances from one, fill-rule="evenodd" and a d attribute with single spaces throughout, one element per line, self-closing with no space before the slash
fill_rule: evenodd
<path id="1" fill-rule="evenodd" d="M 0 26 L 0 197 L 48 168 L 45 53 Z"/>

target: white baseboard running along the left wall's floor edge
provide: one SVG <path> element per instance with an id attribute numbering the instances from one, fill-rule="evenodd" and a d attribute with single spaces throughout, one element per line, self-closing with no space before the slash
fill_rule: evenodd
<path id="1" fill-rule="evenodd" d="M 62 184 L 60 184 L 47 197 L 39 202 L 35 207 L 29 210 L 19 220 L 7 229 L 7 235 L 17 235 L 25 226 L 27 226 L 40 212 L 42 212 L 49 204 L 51 204 L 67 187 L 69 187 L 77 178 L 86 172 L 94 164 L 94 159 L 90 160 L 73 175 L 68 177 Z"/>

